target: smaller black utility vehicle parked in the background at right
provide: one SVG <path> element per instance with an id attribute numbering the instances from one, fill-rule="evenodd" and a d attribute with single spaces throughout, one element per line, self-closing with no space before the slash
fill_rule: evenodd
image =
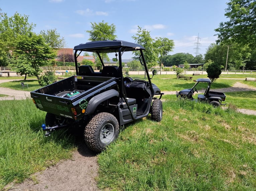
<path id="1" fill-rule="evenodd" d="M 191 100 L 198 100 L 198 101 L 204 101 L 212 104 L 214 107 L 218 107 L 220 105 L 226 105 L 223 104 L 222 101 L 225 101 L 226 95 L 222 92 L 213 92 L 210 91 L 211 88 L 211 80 L 206 78 L 199 78 L 197 80 L 194 80 L 196 84 L 191 89 L 185 89 L 181 90 L 180 92 L 176 92 L 176 96 L 180 98 L 188 98 Z M 195 92 L 198 93 L 198 90 L 196 89 L 196 86 L 199 83 L 207 83 L 207 88 L 205 90 L 204 94 L 198 94 L 198 99 L 193 98 L 193 94 Z"/>

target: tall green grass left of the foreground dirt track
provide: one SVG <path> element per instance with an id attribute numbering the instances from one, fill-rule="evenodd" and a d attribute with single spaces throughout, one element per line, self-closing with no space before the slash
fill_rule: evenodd
<path id="1" fill-rule="evenodd" d="M 36 109 L 31 99 L 1 101 L 0 190 L 72 156 L 73 141 L 63 130 L 43 136 L 44 117 L 45 112 Z"/>

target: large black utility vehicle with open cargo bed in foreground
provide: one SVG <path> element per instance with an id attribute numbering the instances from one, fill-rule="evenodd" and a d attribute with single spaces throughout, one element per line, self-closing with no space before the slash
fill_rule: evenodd
<path id="1" fill-rule="evenodd" d="M 57 128 L 82 126 L 88 147 L 101 152 L 117 138 L 120 125 L 149 113 L 152 120 L 161 121 L 163 93 L 150 81 L 144 49 L 141 45 L 120 40 L 75 46 L 76 75 L 31 92 L 36 107 L 47 112 L 46 124 L 42 125 L 45 135 Z M 123 77 L 122 57 L 128 51 L 140 52 L 139 60 L 148 81 Z M 96 53 L 102 71 L 94 72 L 91 66 L 78 67 L 77 58 L 82 52 Z M 101 53 L 115 53 L 113 61 L 119 62 L 119 67 L 105 66 Z"/>

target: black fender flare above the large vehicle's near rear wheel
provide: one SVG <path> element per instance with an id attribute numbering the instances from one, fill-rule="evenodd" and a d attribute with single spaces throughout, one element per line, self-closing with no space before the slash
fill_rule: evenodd
<path id="1" fill-rule="evenodd" d="M 106 101 L 107 99 L 114 97 L 114 96 L 119 96 L 119 93 L 116 90 L 108 90 L 106 92 L 100 93 L 98 95 L 95 95 L 90 99 L 88 102 L 88 106 L 86 108 L 86 114 L 92 114 L 94 113 L 95 109 L 97 106 L 103 102 Z"/>

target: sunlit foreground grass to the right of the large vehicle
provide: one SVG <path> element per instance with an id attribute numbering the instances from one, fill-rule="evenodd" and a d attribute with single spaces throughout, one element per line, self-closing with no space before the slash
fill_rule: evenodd
<path id="1" fill-rule="evenodd" d="M 256 117 L 168 95 L 160 123 L 126 126 L 98 156 L 110 190 L 255 190 Z"/>

